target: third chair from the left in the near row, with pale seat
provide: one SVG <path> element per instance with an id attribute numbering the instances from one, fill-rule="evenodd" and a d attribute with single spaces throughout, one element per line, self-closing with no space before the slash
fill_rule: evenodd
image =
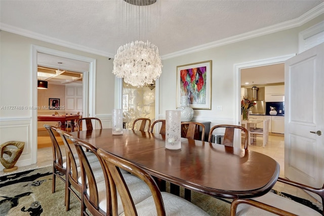
<path id="1" fill-rule="evenodd" d="M 88 182 L 88 184 L 83 185 L 82 215 L 88 215 L 87 209 L 93 215 L 120 215 L 123 213 L 125 207 L 123 208 L 119 194 L 112 193 L 112 191 L 115 191 L 115 188 L 110 186 L 110 172 L 105 169 L 101 157 L 97 154 L 98 149 L 90 143 L 73 136 L 70 136 L 70 140 L 74 143 L 76 152 L 81 161 L 80 172 L 82 173 L 82 182 Z M 94 172 L 91 163 L 89 163 L 87 152 L 85 152 L 84 149 L 96 155 L 100 162 L 100 170 L 104 178 L 98 177 L 98 174 Z M 151 196 L 149 188 L 140 178 L 130 174 L 123 168 L 118 168 L 118 171 L 123 175 L 124 183 L 129 186 L 130 194 L 135 204 Z M 115 196 L 111 196 L 112 194 Z"/>

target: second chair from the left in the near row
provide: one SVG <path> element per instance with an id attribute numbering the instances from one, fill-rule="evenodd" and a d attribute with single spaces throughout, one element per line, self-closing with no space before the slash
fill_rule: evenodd
<path id="1" fill-rule="evenodd" d="M 57 129 L 57 132 L 60 134 L 65 151 L 66 151 L 66 181 L 65 181 L 65 210 L 68 211 L 70 209 L 70 194 L 76 197 L 77 200 L 81 201 L 80 194 L 83 192 L 83 182 L 80 173 L 80 162 L 77 153 L 73 153 L 70 143 L 68 140 L 72 136 L 70 133 Z M 73 145 L 72 145 L 73 146 Z M 75 152 L 75 151 L 74 151 Z M 100 174 L 100 163 L 98 158 L 92 152 L 87 152 L 87 158 L 89 163 L 92 164 L 92 168 L 96 170 L 96 174 L 98 176 L 103 175 Z M 98 173 L 99 172 L 99 173 Z"/>

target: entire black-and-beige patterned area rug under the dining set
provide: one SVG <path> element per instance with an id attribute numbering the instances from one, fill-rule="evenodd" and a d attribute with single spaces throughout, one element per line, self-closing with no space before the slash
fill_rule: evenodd
<path id="1" fill-rule="evenodd" d="M 169 190 L 167 184 L 167 191 Z M 180 196 L 183 196 L 181 188 Z M 301 202 L 317 211 L 322 206 L 316 206 L 304 199 L 272 191 L 294 201 Z M 220 200 L 214 197 L 191 192 L 191 202 L 210 215 L 230 215 L 230 200 Z M 80 202 L 71 195 L 70 210 L 65 211 L 64 183 L 56 180 L 56 192 L 52 194 L 52 167 L 28 170 L 0 177 L 0 216 L 16 215 L 79 215 Z"/>

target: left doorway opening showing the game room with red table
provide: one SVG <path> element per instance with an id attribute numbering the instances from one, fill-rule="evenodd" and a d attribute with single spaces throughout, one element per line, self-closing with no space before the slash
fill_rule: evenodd
<path id="1" fill-rule="evenodd" d="M 59 56 L 37 53 L 37 79 L 48 82 L 47 89 L 37 88 L 37 115 L 83 115 L 83 76 L 89 63 Z M 57 101 L 53 106 L 52 101 Z M 74 122 L 73 122 L 74 123 Z M 37 122 L 37 149 L 51 147 L 52 141 L 44 125 L 61 127 L 61 122 Z M 71 122 L 65 123 L 72 130 Z M 74 128 L 74 127 L 73 127 Z M 56 134 L 59 136 L 58 134 Z"/>

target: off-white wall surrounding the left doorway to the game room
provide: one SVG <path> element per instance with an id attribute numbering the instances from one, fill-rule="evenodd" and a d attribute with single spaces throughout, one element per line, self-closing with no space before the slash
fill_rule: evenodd
<path id="1" fill-rule="evenodd" d="M 112 60 L 3 30 L 0 31 L 0 42 L 0 107 L 2 107 L 0 109 L 0 144 L 10 140 L 25 142 L 23 154 L 17 162 L 18 166 L 31 164 L 32 152 L 35 152 L 32 150 L 37 148 L 37 139 L 32 140 L 32 130 L 37 128 L 37 125 L 32 125 L 32 112 L 29 109 L 32 105 L 31 86 L 33 82 L 31 45 L 96 59 L 95 116 L 102 119 L 103 126 L 110 126 L 111 110 L 114 106 Z M 2 168 L 1 165 L 0 168 Z"/>

